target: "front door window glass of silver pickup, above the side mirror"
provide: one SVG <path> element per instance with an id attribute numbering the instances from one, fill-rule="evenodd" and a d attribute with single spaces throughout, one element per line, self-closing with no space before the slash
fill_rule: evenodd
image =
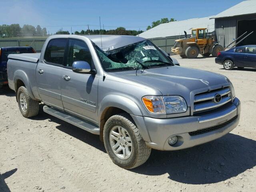
<path id="1" fill-rule="evenodd" d="M 86 61 L 92 66 L 92 56 L 86 43 L 81 40 L 70 39 L 67 66 L 72 66 L 74 61 Z"/>

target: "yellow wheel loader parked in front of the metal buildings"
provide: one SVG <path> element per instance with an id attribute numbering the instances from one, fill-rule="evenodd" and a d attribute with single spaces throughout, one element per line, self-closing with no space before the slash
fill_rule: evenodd
<path id="1" fill-rule="evenodd" d="M 193 28 L 191 37 L 187 37 L 186 31 L 184 39 L 178 39 L 174 42 L 172 52 L 179 54 L 181 58 L 197 58 L 198 54 L 208 57 L 210 54 L 216 57 L 218 52 L 224 48 L 219 45 L 214 37 L 206 36 L 206 28 Z"/>

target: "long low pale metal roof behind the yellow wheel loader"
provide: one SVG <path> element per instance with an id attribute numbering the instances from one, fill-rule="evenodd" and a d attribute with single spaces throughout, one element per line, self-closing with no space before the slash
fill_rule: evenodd
<path id="1" fill-rule="evenodd" d="M 192 28 L 208 28 L 208 32 L 213 32 L 214 19 L 210 19 L 212 17 L 213 16 L 163 23 L 141 33 L 139 36 L 148 39 L 184 35 L 184 30 L 190 34 Z"/>

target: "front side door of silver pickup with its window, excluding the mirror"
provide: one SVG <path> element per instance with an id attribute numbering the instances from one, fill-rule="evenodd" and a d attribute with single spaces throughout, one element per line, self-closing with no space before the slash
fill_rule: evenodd
<path id="1" fill-rule="evenodd" d="M 62 70 L 62 103 L 64 110 L 90 122 L 97 122 L 98 77 L 72 70 L 74 61 L 86 61 L 94 69 L 92 56 L 86 43 L 70 39 L 67 64 Z"/>

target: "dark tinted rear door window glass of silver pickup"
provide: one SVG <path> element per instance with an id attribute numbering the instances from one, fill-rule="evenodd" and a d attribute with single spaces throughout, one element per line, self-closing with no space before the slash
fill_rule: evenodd
<path id="1" fill-rule="evenodd" d="M 67 39 L 50 40 L 44 53 L 45 62 L 64 65 L 64 55 L 67 41 Z"/>

